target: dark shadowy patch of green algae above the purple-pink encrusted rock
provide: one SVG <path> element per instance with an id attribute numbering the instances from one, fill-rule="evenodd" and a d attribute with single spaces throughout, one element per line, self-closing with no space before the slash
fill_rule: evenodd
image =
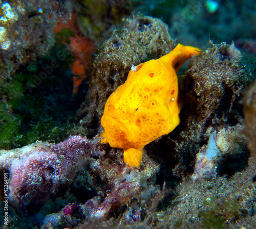
<path id="1" fill-rule="evenodd" d="M 1 149 L 37 140 L 60 142 L 70 135 L 79 99 L 72 94 L 69 35 L 70 31 L 61 31 L 47 55 L 16 70 L 12 79 L 1 79 Z"/>

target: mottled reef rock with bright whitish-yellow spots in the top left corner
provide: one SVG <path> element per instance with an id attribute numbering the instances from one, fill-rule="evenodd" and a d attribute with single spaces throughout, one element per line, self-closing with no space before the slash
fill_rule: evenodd
<path id="1" fill-rule="evenodd" d="M 59 1 L 48 0 L 0 2 L 0 85 L 20 65 L 49 52 L 54 45 L 53 29 L 67 11 L 65 7 Z"/>

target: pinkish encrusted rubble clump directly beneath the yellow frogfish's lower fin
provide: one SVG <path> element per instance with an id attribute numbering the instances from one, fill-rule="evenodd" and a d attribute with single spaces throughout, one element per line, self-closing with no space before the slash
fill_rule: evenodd
<path id="1" fill-rule="evenodd" d="M 84 226 L 108 220 L 113 213 L 120 214 L 128 224 L 141 222 L 143 217 L 151 214 L 145 208 L 156 209 L 165 193 L 159 185 L 154 185 L 159 171 L 156 164 L 147 163 L 143 170 L 139 170 L 123 164 L 104 165 L 98 160 L 90 163 L 87 171 L 99 195 L 81 205 L 86 216 Z M 127 209 L 123 209 L 124 206 Z"/>

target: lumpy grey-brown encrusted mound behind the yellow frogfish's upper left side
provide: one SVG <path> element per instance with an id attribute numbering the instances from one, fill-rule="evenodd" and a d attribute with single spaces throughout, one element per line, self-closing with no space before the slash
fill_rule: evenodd
<path id="1" fill-rule="evenodd" d="M 92 137 L 101 132 L 100 118 L 106 99 L 124 83 L 132 65 L 166 55 L 175 46 L 160 19 L 136 16 L 95 49 L 86 101 L 77 113 L 79 132 Z"/>

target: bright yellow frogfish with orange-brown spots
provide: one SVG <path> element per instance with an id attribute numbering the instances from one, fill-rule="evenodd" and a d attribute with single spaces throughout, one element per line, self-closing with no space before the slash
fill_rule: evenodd
<path id="1" fill-rule="evenodd" d="M 144 146 L 180 123 L 177 72 L 200 52 L 178 44 L 157 60 L 132 66 L 125 83 L 110 95 L 101 118 L 101 142 L 122 148 L 125 163 L 139 167 Z"/>

